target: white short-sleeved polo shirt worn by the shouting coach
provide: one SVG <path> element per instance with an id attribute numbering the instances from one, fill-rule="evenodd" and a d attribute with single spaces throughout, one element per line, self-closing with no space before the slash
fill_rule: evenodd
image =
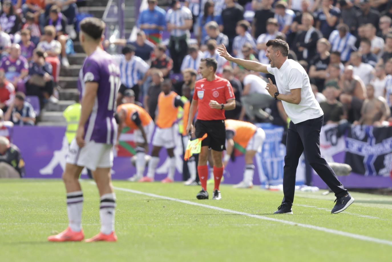
<path id="1" fill-rule="evenodd" d="M 301 88 L 301 102 L 299 104 L 282 101 L 286 114 L 294 124 L 318 118 L 324 114 L 314 97 L 308 74 L 298 62 L 287 59 L 280 69 L 268 65 L 267 70 L 275 76 L 279 93 L 289 95 L 291 89 Z"/>

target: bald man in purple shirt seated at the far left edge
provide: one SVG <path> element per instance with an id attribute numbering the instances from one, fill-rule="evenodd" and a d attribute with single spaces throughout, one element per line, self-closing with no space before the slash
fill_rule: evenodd
<path id="1" fill-rule="evenodd" d="M 20 45 L 12 44 L 9 56 L 3 57 L 0 62 L 0 71 L 3 71 L 5 78 L 16 87 L 29 73 L 29 62 L 20 53 Z"/>

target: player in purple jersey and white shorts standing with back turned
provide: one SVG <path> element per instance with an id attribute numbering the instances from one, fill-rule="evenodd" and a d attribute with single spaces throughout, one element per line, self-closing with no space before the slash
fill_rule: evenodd
<path id="1" fill-rule="evenodd" d="M 101 199 L 101 231 L 85 241 L 117 240 L 114 233 L 116 196 L 110 169 L 113 166 L 113 143 L 117 137 L 114 110 L 120 86 L 120 69 L 111 55 L 100 47 L 104 31 L 105 23 L 98 18 L 85 18 L 80 23 L 79 40 L 87 58 L 79 73 L 82 113 L 63 174 L 69 226 L 64 232 L 49 236 L 49 241 L 82 241 L 84 238 L 81 223 L 83 194 L 78 181 L 83 167 L 93 171 Z"/>

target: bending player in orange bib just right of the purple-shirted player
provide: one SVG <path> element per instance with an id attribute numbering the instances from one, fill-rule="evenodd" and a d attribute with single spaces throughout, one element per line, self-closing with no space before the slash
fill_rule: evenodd
<path id="1" fill-rule="evenodd" d="M 125 126 L 133 129 L 134 141 L 136 143 L 136 174 L 129 178 L 135 182 L 143 178 L 146 165 L 146 152 L 154 132 L 154 121 L 144 108 L 137 104 L 127 103 L 117 107 L 116 120 L 118 122 L 118 133 L 115 147 L 118 147 L 121 131 Z"/>

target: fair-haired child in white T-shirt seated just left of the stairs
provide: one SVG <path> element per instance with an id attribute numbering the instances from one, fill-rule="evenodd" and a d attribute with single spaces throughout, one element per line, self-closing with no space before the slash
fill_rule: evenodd
<path id="1" fill-rule="evenodd" d="M 45 61 L 50 63 L 53 68 L 53 81 L 57 82 L 60 74 L 60 53 L 61 44 L 54 38 L 56 37 L 56 28 L 54 26 L 45 26 L 42 41 L 38 43 L 37 49 L 47 53 Z"/>

